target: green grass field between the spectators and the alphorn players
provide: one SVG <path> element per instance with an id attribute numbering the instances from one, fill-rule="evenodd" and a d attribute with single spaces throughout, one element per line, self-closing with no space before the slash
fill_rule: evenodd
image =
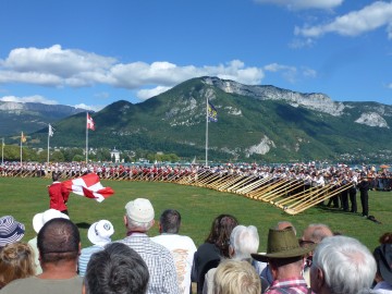
<path id="1" fill-rule="evenodd" d="M 49 179 L 0 177 L 0 216 L 11 215 L 26 225 L 26 234 L 23 238 L 25 242 L 35 235 L 32 225 L 34 215 L 49 208 L 47 185 L 50 183 Z M 359 215 L 324 207 L 315 207 L 297 216 L 290 216 L 267 203 L 195 186 L 118 181 L 102 181 L 102 184 L 111 186 L 115 192 L 103 203 L 99 204 L 75 194 L 70 196 L 69 212 L 72 221 L 81 230 L 82 246 L 90 246 L 87 229 L 89 224 L 100 219 L 108 219 L 113 223 L 115 230 L 113 240 L 124 237 L 124 206 L 137 197 L 151 200 L 156 210 L 156 220 L 159 219 L 162 210 L 177 209 L 183 219 L 180 233 L 191 236 L 197 246 L 204 242 L 213 218 L 220 213 L 232 213 L 240 223 L 256 225 L 260 235 L 260 252 L 266 250 L 268 229 L 282 220 L 293 222 L 299 236 L 309 223 L 326 223 L 332 231 L 358 238 L 370 250 L 378 246 L 380 235 L 392 231 L 391 192 L 369 193 L 370 215 L 382 222 L 382 224 L 377 224 Z M 359 193 L 357 201 L 358 211 L 360 211 Z M 156 224 L 150 235 L 157 234 L 158 225 Z"/>

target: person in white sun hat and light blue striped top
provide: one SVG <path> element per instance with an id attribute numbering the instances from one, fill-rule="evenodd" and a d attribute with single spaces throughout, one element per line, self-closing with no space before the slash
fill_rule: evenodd
<path id="1" fill-rule="evenodd" d="M 97 221 L 88 228 L 87 237 L 94 245 L 82 249 L 78 258 L 78 274 L 81 277 L 85 275 L 91 255 L 102 250 L 105 245 L 111 242 L 112 234 L 114 234 L 113 224 L 108 220 Z"/>

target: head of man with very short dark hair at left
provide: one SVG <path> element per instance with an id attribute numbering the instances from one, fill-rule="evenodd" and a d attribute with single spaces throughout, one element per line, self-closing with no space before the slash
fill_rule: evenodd
<path id="1" fill-rule="evenodd" d="M 81 252 L 81 235 L 77 226 L 68 219 L 58 218 L 48 221 L 38 233 L 37 247 L 41 266 L 62 260 L 76 262 Z"/>

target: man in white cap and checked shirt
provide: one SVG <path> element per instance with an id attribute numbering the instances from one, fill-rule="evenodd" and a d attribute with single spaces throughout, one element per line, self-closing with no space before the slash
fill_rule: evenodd
<path id="1" fill-rule="evenodd" d="M 125 212 L 126 237 L 119 242 L 138 253 L 146 262 L 150 277 L 147 293 L 180 293 L 171 253 L 147 235 L 154 225 L 155 211 L 151 203 L 145 198 L 137 198 L 126 204 Z"/>

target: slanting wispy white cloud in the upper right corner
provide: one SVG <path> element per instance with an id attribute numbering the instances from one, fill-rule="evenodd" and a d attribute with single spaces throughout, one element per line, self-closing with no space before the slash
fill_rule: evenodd
<path id="1" fill-rule="evenodd" d="M 392 3 L 376 1 L 362 10 L 338 16 L 333 22 L 317 26 L 295 27 L 294 34 L 305 37 L 319 37 L 327 33 L 342 36 L 358 36 L 387 26 L 388 37 L 392 38 Z"/>

